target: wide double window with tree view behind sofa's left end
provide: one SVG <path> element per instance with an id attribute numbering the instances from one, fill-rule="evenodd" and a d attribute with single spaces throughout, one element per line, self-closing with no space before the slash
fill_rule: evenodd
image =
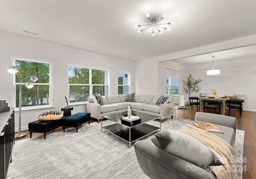
<path id="1" fill-rule="evenodd" d="M 108 70 L 68 65 L 70 103 L 84 103 L 93 94 L 108 95 L 108 74 Z"/>

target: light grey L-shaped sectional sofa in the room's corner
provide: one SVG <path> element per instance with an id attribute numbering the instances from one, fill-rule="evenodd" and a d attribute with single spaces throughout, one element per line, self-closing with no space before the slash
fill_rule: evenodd
<path id="1" fill-rule="evenodd" d="M 103 105 L 95 104 L 93 97 L 88 97 L 88 103 L 86 109 L 88 113 L 91 113 L 91 117 L 100 119 L 104 115 L 110 115 L 115 113 L 122 113 L 127 111 L 127 107 L 130 105 L 132 111 L 147 113 L 159 116 L 161 122 L 167 118 L 167 110 L 169 105 L 174 105 L 172 102 L 172 96 L 169 97 L 168 103 L 162 105 L 156 105 L 157 99 L 160 95 L 138 95 L 135 94 L 134 102 L 124 102 L 125 94 L 122 95 L 107 95 L 102 96 Z M 173 117 L 174 111 L 170 109 L 169 116 Z"/>

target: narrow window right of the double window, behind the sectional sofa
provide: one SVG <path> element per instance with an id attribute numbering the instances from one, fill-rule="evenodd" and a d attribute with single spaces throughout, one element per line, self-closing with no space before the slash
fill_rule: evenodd
<path id="1" fill-rule="evenodd" d="M 118 94 L 127 94 L 130 92 L 130 73 L 118 72 Z"/>

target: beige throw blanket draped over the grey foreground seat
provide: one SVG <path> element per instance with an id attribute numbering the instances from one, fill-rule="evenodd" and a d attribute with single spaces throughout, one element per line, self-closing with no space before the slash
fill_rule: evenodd
<path id="1" fill-rule="evenodd" d="M 198 139 L 225 164 L 210 166 L 217 179 L 237 179 L 236 152 L 229 143 L 210 132 L 203 131 L 192 125 L 184 125 L 177 131 Z"/>

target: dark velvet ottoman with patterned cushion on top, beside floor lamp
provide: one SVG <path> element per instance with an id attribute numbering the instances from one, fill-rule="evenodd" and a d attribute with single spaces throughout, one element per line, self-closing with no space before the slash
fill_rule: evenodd
<path id="1" fill-rule="evenodd" d="M 46 139 L 46 133 L 61 127 L 60 119 L 52 121 L 33 121 L 28 123 L 28 131 L 30 133 L 30 139 L 32 138 L 32 133 L 44 133 L 44 139 Z"/>

